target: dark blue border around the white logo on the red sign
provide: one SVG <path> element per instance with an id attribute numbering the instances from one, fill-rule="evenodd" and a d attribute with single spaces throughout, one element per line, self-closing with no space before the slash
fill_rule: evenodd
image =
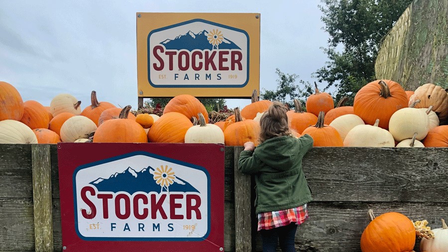
<path id="1" fill-rule="evenodd" d="M 163 161 L 167 161 L 167 162 L 171 162 L 171 163 L 175 163 L 175 164 L 179 164 L 179 165 L 183 165 L 183 166 L 187 166 L 196 170 L 201 170 L 203 171 L 206 175 L 207 175 L 207 197 L 208 197 L 208 228 L 207 228 L 207 233 L 200 238 L 123 238 L 123 237 L 84 237 L 83 235 L 81 235 L 79 233 L 78 230 L 78 200 L 77 200 L 77 195 L 76 195 L 76 174 L 82 170 L 82 169 L 86 169 L 86 168 L 90 168 L 92 166 L 96 166 L 96 165 L 100 165 L 100 164 L 104 164 L 104 163 L 109 163 L 112 161 L 116 161 L 116 160 L 120 160 L 120 159 L 124 159 L 127 157 L 131 157 L 131 156 L 137 156 L 137 155 L 143 155 L 143 156 L 148 156 L 148 157 L 153 157 L 153 158 L 157 158 Z M 172 158 L 168 158 L 168 157 L 164 157 L 164 156 L 160 156 L 160 155 L 156 155 L 153 153 L 149 153 L 146 151 L 134 151 L 134 152 L 130 152 L 130 153 L 126 153 L 123 155 L 119 155 L 119 156 L 114 156 L 111 158 L 107 158 L 107 159 L 103 159 L 103 160 L 99 160 L 93 163 L 88 163 L 88 164 L 83 164 L 80 165 L 78 167 L 76 167 L 75 171 L 73 172 L 73 200 L 74 200 L 74 208 L 75 208 L 75 231 L 76 234 L 79 236 L 79 238 L 85 240 L 85 241 L 134 241 L 134 242 L 139 242 L 139 241 L 147 241 L 147 242 L 199 242 L 199 241 L 204 241 L 206 240 L 209 235 L 210 235 L 210 228 L 211 228 L 211 223 L 210 223 L 210 217 L 211 217 L 211 192 L 210 192 L 210 187 L 211 187 L 211 182 L 210 182 L 210 173 L 209 171 L 199 165 L 194 165 L 194 164 L 190 164 L 187 162 L 183 162 L 183 161 L 179 161 L 176 159 L 172 159 Z"/>

